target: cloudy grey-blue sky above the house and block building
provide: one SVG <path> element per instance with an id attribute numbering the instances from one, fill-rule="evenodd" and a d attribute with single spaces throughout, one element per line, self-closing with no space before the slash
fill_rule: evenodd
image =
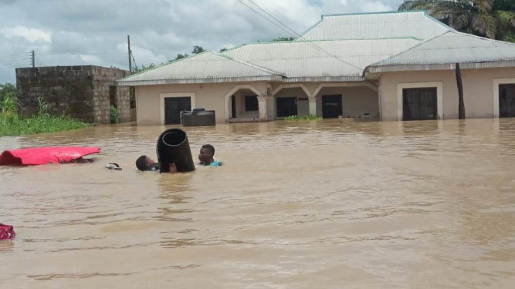
<path id="1" fill-rule="evenodd" d="M 241 0 L 249 6 L 249 0 Z M 321 14 L 397 10 L 402 0 L 252 0 L 303 32 Z M 255 7 L 254 7 L 255 8 Z M 257 8 L 256 8 L 257 9 Z M 0 83 L 15 67 L 160 64 L 193 45 L 218 51 L 288 35 L 238 0 L 0 0 Z"/>

